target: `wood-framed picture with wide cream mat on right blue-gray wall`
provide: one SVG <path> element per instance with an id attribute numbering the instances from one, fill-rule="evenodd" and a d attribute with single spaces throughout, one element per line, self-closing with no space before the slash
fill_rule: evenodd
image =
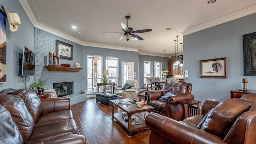
<path id="1" fill-rule="evenodd" d="M 200 78 L 228 78 L 227 58 L 200 60 Z"/>

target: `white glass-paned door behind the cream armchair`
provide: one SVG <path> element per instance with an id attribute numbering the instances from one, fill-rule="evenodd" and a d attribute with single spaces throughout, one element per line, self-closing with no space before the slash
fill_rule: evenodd
<path id="1" fill-rule="evenodd" d="M 134 80 L 134 62 L 121 62 L 122 64 L 122 86 L 126 80 Z"/>

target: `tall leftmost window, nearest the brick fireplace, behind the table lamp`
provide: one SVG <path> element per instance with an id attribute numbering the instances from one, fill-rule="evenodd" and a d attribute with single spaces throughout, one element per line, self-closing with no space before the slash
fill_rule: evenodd
<path id="1" fill-rule="evenodd" d="M 101 56 L 87 56 L 87 83 L 89 91 L 97 91 L 97 83 L 102 81 L 101 78 Z"/>

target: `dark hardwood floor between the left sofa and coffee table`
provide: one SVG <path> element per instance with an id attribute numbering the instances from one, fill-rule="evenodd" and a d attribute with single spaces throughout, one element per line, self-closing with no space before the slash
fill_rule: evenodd
<path id="1" fill-rule="evenodd" d="M 86 144 L 148 144 L 150 131 L 140 130 L 134 132 L 131 137 L 126 131 L 111 119 L 111 106 L 100 102 L 95 98 L 72 105 L 74 119 L 78 125 L 79 133 L 86 138 Z M 115 107 L 114 112 L 122 110 Z M 144 118 L 144 113 L 140 114 Z"/>

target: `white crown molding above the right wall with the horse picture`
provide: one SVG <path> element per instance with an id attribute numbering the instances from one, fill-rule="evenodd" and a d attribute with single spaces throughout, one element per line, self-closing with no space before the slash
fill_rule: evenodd
<path id="1" fill-rule="evenodd" d="M 206 28 L 210 28 L 212 26 L 216 26 L 219 24 L 223 24 L 225 22 L 229 22 L 231 20 L 235 20 L 237 18 L 241 18 L 243 16 L 247 16 L 249 14 L 253 14 L 256 12 L 256 4 L 252 4 L 250 6 L 246 6 L 244 8 L 240 8 L 239 10 L 230 12 L 228 14 L 219 16 L 217 18 L 214 18 L 212 20 L 206 21 L 204 23 L 198 24 L 196 26 L 187 28 L 185 30 L 181 30 L 179 31 L 180 33 L 183 34 L 183 36 L 188 35 L 188 34 L 192 34 L 194 32 L 198 32 L 200 30 L 204 30 Z"/>

